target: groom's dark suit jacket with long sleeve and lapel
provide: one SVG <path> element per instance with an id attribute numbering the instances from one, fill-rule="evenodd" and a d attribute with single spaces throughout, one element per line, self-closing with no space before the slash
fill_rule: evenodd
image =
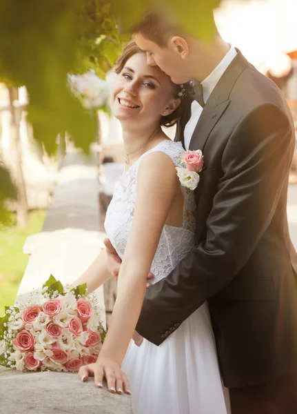
<path id="1" fill-rule="evenodd" d="M 190 117 L 187 97 L 177 126 Z M 295 147 L 283 95 L 238 51 L 209 97 L 191 150 L 205 168 L 196 195 L 196 245 L 147 290 L 136 330 L 160 345 L 208 301 L 226 386 L 297 370 L 297 288 L 287 225 Z"/>

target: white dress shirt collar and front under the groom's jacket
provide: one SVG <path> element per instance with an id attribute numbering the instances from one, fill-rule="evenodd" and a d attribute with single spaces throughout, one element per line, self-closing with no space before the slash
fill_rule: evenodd
<path id="1" fill-rule="evenodd" d="M 207 78 L 204 79 L 204 81 L 201 82 L 203 86 L 203 100 L 205 101 L 205 103 L 207 102 L 207 99 L 210 97 L 212 91 L 214 90 L 216 83 L 218 83 L 218 81 L 221 79 L 223 73 L 225 72 L 229 64 L 232 62 L 234 57 L 236 57 L 236 55 L 236 49 L 233 46 L 231 46 L 230 50 L 227 52 L 227 55 L 225 55 L 221 62 L 218 63 L 218 66 L 216 66 L 212 73 L 208 75 Z M 194 129 L 197 125 L 198 119 L 200 118 L 202 111 L 202 106 L 197 101 L 193 101 L 191 106 L 191 117 L 187 122 L 184 131 L 186 150 L 189 149 Z"/>

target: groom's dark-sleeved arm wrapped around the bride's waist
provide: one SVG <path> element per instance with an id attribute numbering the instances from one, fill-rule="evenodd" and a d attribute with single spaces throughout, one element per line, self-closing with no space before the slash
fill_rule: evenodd
<path id="1" fill-rule="evenodd" d="M 272 220 L 293 151 L 289 119 L 273 103 L 240 121 L 223 153 L 206 239 L 147 290 L 137 332 L 161 344 L 232 281 Z"/>

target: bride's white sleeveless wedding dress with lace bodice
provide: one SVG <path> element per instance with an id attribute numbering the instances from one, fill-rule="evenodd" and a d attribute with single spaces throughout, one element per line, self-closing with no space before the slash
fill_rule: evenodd
<path id="1" fill-rule="evenodd" d="M 106 233 L 121 258 L 133 219 L 139 164 L 153 151 L 165 152 L 177 165 L 183 147 L 174 141 L 161 141 L 121 175 L 105 219 Z M 194 246 L 194 193 L 185 187 L 182 189 L 183 228 L 164 226 L 152 262 L 154 282 L 166 277 Z M 229 393 L 221 382 L 206 303 L 160 346 L 144 339 L 138 347 L 132 340 L 122 369 L 130 380 L 134 414 L 231 413 Z"/>

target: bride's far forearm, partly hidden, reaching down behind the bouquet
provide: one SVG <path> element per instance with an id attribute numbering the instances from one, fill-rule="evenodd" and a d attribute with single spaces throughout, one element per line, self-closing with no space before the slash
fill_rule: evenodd
<path id="1" fill-rule="evenodd" d="M 110 277 L 111 275 L 107 270 L 107 254 L 105 248 L 103 248 L 88 269 L 85 270 L 79 279 L 76 279 L 76 281 L 72 283 L 72 286 L 86 283 L 88 286 L 88 293 L 91 293 L 93 290 L 104 284 Z"/>

